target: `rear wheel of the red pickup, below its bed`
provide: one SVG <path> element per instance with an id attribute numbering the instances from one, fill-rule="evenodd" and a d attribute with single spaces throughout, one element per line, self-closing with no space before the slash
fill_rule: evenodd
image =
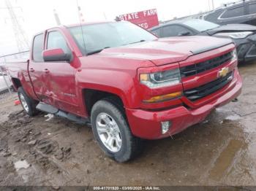
<path id="1" fill-rule="evenodd" d="M 23 107 L 24 111 L 27 114 L 29 114 L 29 116 L 32 117 L 35 114 L 37 114 L 36 106 L 38 102 L 32 98 L 29 98 L 29 96 L 23 90 L 23 87 L 18 88 L 18 97 L 19 97 L 21 106 Z"/>

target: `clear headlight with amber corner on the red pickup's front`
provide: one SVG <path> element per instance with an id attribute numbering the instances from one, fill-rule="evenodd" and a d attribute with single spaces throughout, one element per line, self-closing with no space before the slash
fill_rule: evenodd
<path id="1" fill-rule="evenodd" d="M 179 69 L 173 69 L 152 74 L 140 74 L 140 83 L 152 89 L 178 85 L 181 83 L 181 73 Z"/>

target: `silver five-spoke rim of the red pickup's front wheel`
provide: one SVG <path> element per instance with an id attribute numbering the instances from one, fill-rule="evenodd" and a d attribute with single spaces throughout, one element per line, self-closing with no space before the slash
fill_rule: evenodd
<path id="1" fill-rule="evenodd" d="M 99 139 L 111 152 L 121 149 L 121 132 L 116 121 L 109 114 L 99 113 L 96 118 Z"/>

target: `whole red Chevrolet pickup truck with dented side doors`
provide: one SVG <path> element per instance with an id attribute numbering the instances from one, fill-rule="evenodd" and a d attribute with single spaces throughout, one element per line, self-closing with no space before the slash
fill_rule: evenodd
<path id="1" fill-rule="evenodd" d="M 202 122 L 241 93 L 229 39 L 158 39 L 128 22 L 50 28 L 34 36 L 30 59 L 7 66 L 23 109 L 91 124 L 106 155 L 125 162 L 143 139 Z"/>

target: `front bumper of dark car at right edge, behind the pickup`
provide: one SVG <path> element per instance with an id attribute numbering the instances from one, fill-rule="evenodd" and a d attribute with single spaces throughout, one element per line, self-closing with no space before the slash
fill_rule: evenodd
<path id="1" fill-rule="evenodd" d="M 256 60 L 256 34 L 246 39 L 234 39 L 239 61 Z"/>

